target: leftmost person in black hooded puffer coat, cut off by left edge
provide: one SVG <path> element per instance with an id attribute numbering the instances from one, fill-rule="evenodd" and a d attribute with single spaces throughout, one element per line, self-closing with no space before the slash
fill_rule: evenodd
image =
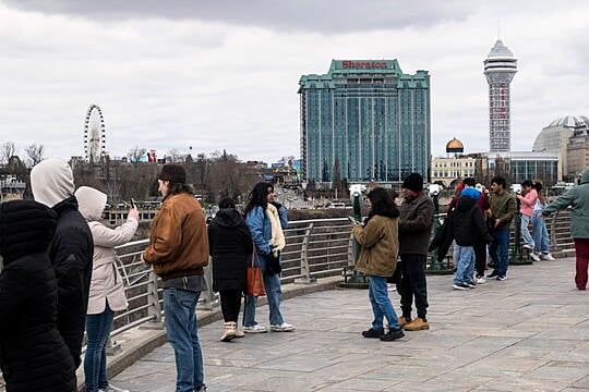
<path id="1" fill-rule="evenodd" d="M 32 200 L 0 205 L 0 368 L 7 392 L 71 392 L 75 370 L 56 328 L 57 280 L 46 250 L 56 213 Z"/>

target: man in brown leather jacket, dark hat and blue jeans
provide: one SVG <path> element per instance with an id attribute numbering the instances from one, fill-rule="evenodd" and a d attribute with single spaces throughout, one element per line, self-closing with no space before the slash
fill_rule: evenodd
<path id="1" fill-rule="evenodd" d="M 184 168 L 164 166 L 157 182 L 164 200 L 152 221 L 149 246 L 142 257 L 163 280 L 166 332 L 176 357 L 176 391 L 204 391 L 195 308 L 207 287 L 203 269 L 208 265 L 205 216 L 187 184 Z"/>

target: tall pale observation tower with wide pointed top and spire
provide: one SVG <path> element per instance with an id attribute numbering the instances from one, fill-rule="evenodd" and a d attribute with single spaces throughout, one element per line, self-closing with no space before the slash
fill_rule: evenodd
<path id="1" fill-rule="evenodd" d="M 512 149 L 510 88 L 517 72 L 514 53 L 497 39 L 484 60 L 484 75 L 489 83 L 489 142 L 490 151 Z"/>

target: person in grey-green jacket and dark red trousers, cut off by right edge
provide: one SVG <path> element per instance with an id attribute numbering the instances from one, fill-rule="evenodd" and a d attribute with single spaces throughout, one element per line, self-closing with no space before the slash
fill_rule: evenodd
<path id="1" fill-rule="evenodd" d="M 558 196 L 542 211 L 542 217 L 550 217 L 557 210 L 570 206 L 570 234 L 575 240 L 577 266 L 575 283 L 577 289 L 587 290 L 587 269 L 589 268 L 589 169 L 581 174 L 580 184 Z"/>

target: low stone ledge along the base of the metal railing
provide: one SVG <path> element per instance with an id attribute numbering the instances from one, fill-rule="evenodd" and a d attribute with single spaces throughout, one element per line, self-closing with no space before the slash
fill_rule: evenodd
<path id="1" fill-rule="evenodd" d="M 289 283 L 283 285 L 283 301 L 293 298 L 300 295 L 311 294 L 321 291 L 335 290 L 342 281 L 341 277 L 330 277 L 317 279 L 315 283 Z M 267 298 L 261 297 L 257 306 L 267 304 Z M 242 307 L 243 309 L 243 307 Z M 214 310 L 197 310 L 199 326 L 206 326 L 223 319 L 220 307 Z M 115 339 L 121 344 L 122 351 L 107 359 L 108 378 L 115 376 L 133 365 L 140 358 L 151 353 L 153 350 L 164 345 L 167 342 L 166 330 L 164 326 L 137 327 L 125 331 Z M 77 369 L 77 390 L 85 391 L 83 366 Z"/>

